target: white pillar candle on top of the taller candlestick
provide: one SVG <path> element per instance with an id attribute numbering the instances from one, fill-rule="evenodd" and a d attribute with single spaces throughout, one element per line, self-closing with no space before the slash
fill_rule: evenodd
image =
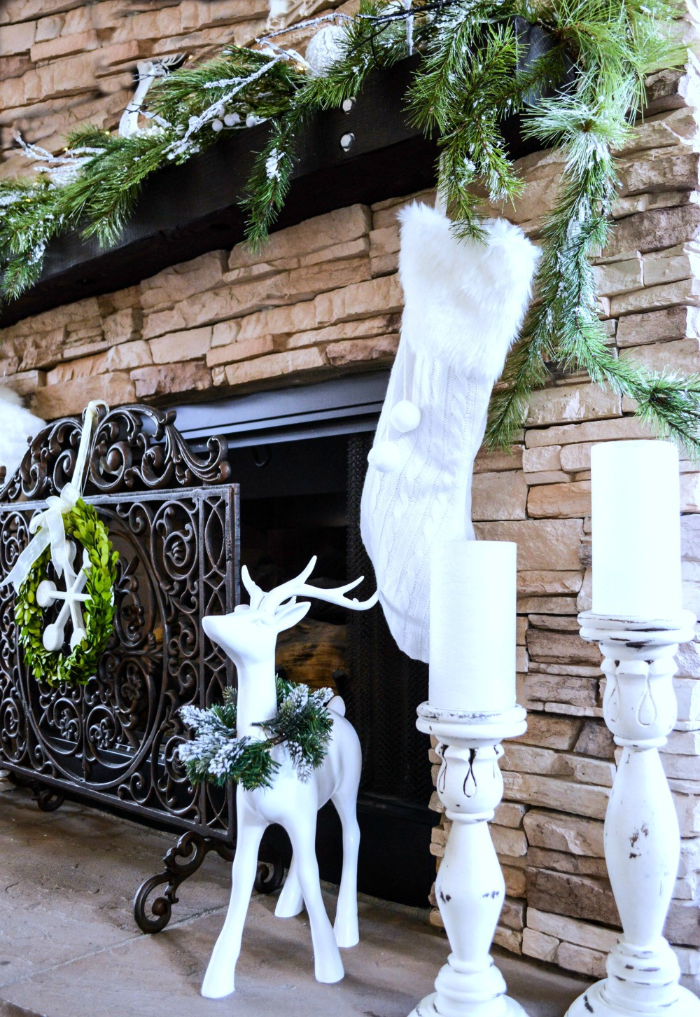
<path id="1" fill-rule="evenodd" d="M 590 456 L 596 614 L 673 618 L 681 603 L 678 450 L 607 441 Z"/>

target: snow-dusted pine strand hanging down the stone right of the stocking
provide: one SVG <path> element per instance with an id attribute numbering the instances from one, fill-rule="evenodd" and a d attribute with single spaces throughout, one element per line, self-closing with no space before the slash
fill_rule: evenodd
<path id="1" fill-rule="evenodd" d="M 580 0 L 569 16 L 580 15 L 585 3 Z M 630 10 L 634 16 L 635 8 Z M 492 447 L 511 443 L 526 419 L 531 391 L 546 380 L 546 363 L 554 360 L 564 372 L 583 369 L 596 383 L 635 400 L 638 415 L 652 430 L 700 459 L 698 379 L 659 375 L 619 360 L 608 348 L 598 316 L 590 259 L 609 238 L 618 185 L 613 149 L 629 136 L 644 73 L 662 59 L 666 46 L 662 35 L 650 31 L 648 9 L 639 14 L 642 43 L 636 49 L 630 43 L 634 24 L 628 23 L 615 45 L 628 16 L 621 7 L 617 24 L 603 21 L 595 33 L 582 31 L 579 21 L 567 22 L 584 67 L 579 88 L 574 97 L 544 100 L 530 115 L 527 133 L 562 148 L 567 163 L 561 197 L 543 234 L 539 304 L 530 311 L 492 402 L 487 431 Z"/>

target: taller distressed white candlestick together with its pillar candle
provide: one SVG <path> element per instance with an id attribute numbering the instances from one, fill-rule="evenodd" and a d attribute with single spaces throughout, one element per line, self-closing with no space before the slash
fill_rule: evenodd
<path id="1" fill-rule="evenodd" d="M 695 634 L 694 614 L 680 607 L 678 454 L 666 442 L 596 445 L 591 480 L 593 610 L 579 622 L 603 655 L 603 716 L 623 750 L 604 831 L 623 933 L 608 977 L 567 1017 L 700 1017 L 662 936 L 680 835 L 658 750 L 676 723 L 674 656 Z"/>

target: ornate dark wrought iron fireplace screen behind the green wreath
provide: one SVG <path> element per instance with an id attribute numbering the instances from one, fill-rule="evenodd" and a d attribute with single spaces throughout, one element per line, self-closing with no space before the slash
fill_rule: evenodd
<path id="1" fill-rule="evenodd" d="M 231 792 L 192 789 L 176 750 L 180 706 L 209 705 L 234 680 L 201 619 L 235 606 L 239 489 L 227 483 L 226 439 L 195 455 L 174 419 L 130 406 L 103 411 L 96 432 L 84 495 L 119 571 L 115 631 L 86 685 L 52 689 L 27 674 L 14 593 L 0 590 L 0 758 L 20 779 L 231 841 Z M 3 575 L 34 514 L 72 477 L 80 433 L 72 418 L 45 428 L 0 491 Z"/>

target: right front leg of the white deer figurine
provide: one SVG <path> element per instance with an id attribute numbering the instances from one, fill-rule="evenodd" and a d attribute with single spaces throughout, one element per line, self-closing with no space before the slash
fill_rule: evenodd
<path id="1" fill-rule="evenodd" d="M 292 841 L 299 884 L 311 925 L 316 980 L 339 981 L 345 972 L 321 895 L 316 860 L 316 812 L 311 816 L 309 813 L 302 813 L 291 817 L 287 832 Z"/>

